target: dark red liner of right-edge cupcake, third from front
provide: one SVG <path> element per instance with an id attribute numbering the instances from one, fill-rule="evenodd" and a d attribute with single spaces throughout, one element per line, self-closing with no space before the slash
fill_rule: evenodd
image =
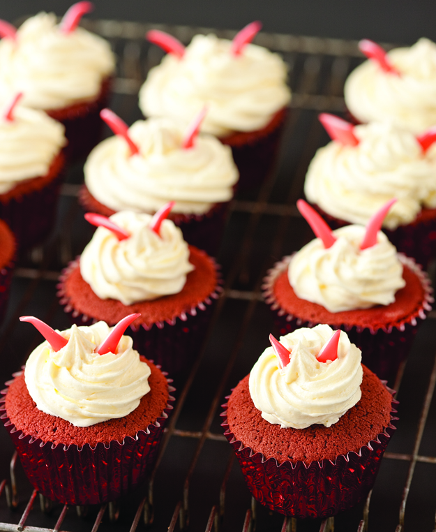
<path id="1" fill-rule="evenodd" d="M 317 205 L 312 206 L 332 229 L 350 225 L 350 222 L 327 214 Z M 398 252 L 414 258 L 423 269 L 427 269 L 430 260 L 436 258 L 436 209 L 423 208 L 407 226 L 398 226 L 393 230 L 382 228 L 382 231 Z"/>

